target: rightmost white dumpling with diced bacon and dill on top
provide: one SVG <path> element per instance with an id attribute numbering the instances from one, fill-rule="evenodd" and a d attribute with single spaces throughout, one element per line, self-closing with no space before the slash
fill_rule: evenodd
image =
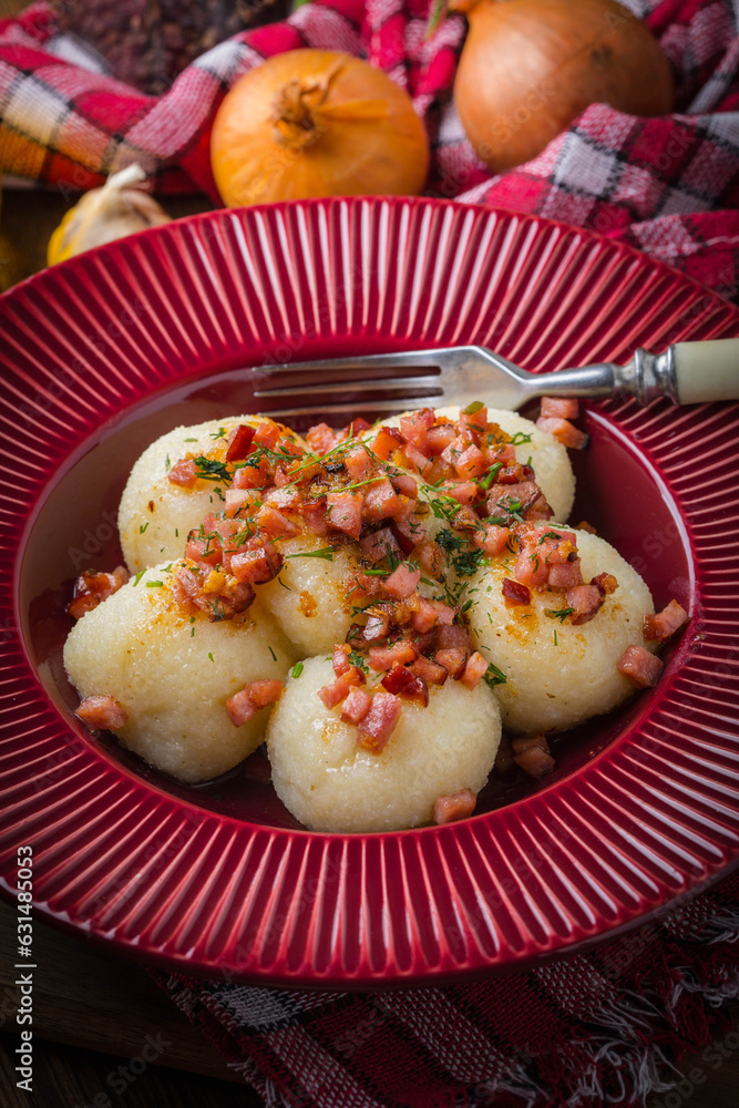
<path id="1" fill-rule="evenodd" d="M 532 588 L 531 605 L 509 607 L 501 587 L 503 577 L 513 577 L 515 556 L 491 558 L 471 582 L 471 629 L 483 657 L 506 676 L 495 690 L 503 727 L 520 735 L 565 730 L 610 711 L 634 693 L 616 668 L 626 647 L 654 648 L 643 634 L 643 617 L 654 612 L 644 581 L 605 540 L 576 535 L 584 581 L 599 573 L 618 581 L 588 623 L 547 615 L 567 604 L 552 589 Z"/>

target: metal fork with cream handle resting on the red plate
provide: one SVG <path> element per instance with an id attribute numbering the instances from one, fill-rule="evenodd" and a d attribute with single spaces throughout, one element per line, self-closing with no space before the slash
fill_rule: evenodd
<path id="1" fill-rule="evenodd" d="M 709 403 L 739 400 L 739 338 L 676 342 L 659 355 L 638 349 L 626 366 L 597 362 L 553 373 L 531 373 L 485 347 L 464 346 L 260 366 L 254 379 L 254 396 L 268 401 L 260 411 L 269 416 L 464 408 L 473 401 L 515 411 L 544 396 Z M 341 399 L 332 400 L 337 393 Z"/>

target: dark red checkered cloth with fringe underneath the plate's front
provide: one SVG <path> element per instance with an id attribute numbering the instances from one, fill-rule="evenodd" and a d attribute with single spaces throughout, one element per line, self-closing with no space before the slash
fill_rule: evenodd
<path id="1" fill-rule="evenodd" d="M 738 940 L 733 878 L 599 951 L 445 988 L 153 976 L 268 1108 L 637 1108 L 679 1091 L 685 1049 L 700 1084 L 736 1051 Z"/>

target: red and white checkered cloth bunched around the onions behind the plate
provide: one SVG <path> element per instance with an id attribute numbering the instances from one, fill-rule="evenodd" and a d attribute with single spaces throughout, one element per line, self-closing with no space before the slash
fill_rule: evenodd
<path id="1" fill-rule="evenodd" d="M 163 192 L 217 199 L 208 136 L 225 91 L 298 47 L 368 58 L 413 96 L 433 146 L 429 192 L 577 224 L 640 247 L 726 296 L 739 290 L 739 0 L 622 0 L 644 17 L 677 78 L 660 119 L 588 107 L 533 162 L 491 177 L 452 103 L 465 21 L 425 38 L 430 0 L 315 0 L 245 31 L 151 98 L 60 35 L 45 2 L 0 22 L 0 168 L 69 194 L 132 161 Z"/>

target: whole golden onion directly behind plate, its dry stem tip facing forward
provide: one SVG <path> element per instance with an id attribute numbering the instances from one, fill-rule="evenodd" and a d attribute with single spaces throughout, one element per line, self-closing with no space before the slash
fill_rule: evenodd
<path id="1" fill-rule="evenodd" d="M 290 50 L 227 93 L 211 136 L 227 207 L 312 196 L 415 195 L 425 127 L 381 70 L 330 50 Z"/>

